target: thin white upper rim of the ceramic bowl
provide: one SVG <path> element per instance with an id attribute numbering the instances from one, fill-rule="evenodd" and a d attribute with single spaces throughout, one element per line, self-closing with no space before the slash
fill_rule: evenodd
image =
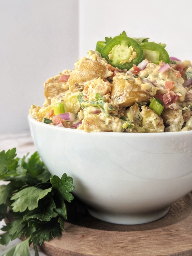
<path id="1" fill-rule="evenodd" d="M 49 125 L 45 124 L 43 122 L 37 121 L 35 118 L 33 118 L 30 114 L 28 114 L 28 122 L 34 123 L 35 125 L 43 127 L 45 125 L 46 129 L 54 129 L 55 131 L 63 131 L 63 132 L 74 132 L 79 134 L 86 134 L 87 136 L 91 134 L 91 136 L 118 136 L 121 138 L 126 137 L 150 137 L 150 138 L 161 138 L 161 137 L 180 137 L 181 134 L 184 134 L 185 136 L 192 136 L 192 130 L 191 131 L 179 131 L 179 132 L 84 132 L 84 130 L 78 130 L 78 129 L 70 129 L 66 127 L 59 127 L 55 125 Z M 182 135 L 182 136 L 184 136 Z"/>

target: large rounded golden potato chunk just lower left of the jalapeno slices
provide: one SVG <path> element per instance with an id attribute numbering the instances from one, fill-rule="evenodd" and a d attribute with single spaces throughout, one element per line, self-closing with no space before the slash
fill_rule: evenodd
<path id="1" fill-rule="evenodd" d="M 77 62 L 76 67 L 71 71 L 68 80 L 69 90 L 72 93 L 82 91 L 84 82 L 99 77 L 105 79 L 112 74 L 113 72 L 107 68 L 107 62 L 103 58 L 97 56 L 94 59 L 87 59 L 84 57 Z"/>

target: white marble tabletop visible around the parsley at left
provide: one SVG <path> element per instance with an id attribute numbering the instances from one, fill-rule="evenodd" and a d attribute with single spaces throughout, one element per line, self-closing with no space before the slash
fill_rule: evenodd
<path id="1" fill-rule="evenodd" d="M 34 146 L 33 140 L 30 136 L 29 131 L 25 131 L 22 133 L 11 133 L 11 134 L 0 134 L 0 151 L 8 149 L 16 148 L 17 156 L 23 157 L 29 152 L 29 156 L 36 151 Z M 4 184 L 5 182 L 0 180 L 0 185 Z M 5 225 L 4 220 L 0 221 L 0 229 Z M 3 231 L 0 230 L 0 234 Z M 15 239 L 11 241 L 7 246 L 0 244 L 0 256 L 4 253 L 8 252 L 12 247 L 16 244 L 19 244 L 21 241 L 20 239 Z M 35 256 L 35 251 L 30 248 L 31 256 Z M 44 253 L 39 252 L 39 256 L 44 256 Z M 23 255 L 24 256 L 24 255 Z"/>

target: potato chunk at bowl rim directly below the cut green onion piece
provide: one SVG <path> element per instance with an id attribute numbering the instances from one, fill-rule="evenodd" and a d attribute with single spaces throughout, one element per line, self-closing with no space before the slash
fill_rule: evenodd
<path id="1" fill-rule="evenodd" d="M 145 127 L 145 132 L 164 132 L 163 119 L 146 106 L 142 106 L 141 109 L 142 126 Z"/>

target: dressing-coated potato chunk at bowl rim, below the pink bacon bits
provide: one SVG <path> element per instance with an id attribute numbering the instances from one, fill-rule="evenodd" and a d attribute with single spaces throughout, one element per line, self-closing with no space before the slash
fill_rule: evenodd
<path id="1" fill-rule="evenodd" d="M 161 114 L 164 123 L 167 125 L 165 132 L 178 132 L 181 131 L 184 120 L 181 109 L 164 109 Z"/>

